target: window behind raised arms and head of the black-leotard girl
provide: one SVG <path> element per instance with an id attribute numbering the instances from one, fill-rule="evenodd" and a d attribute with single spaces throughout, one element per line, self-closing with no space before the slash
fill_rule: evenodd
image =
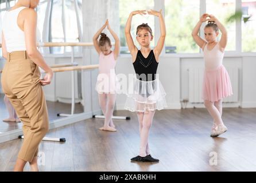
<path id="1" fill-rule="evenodd" d="M 129 53 L 126 39 L 125 39 L 125 24 L 127 18 L 131 11 L 137 10 L 150 10 L 154 9 L 154 0 L 121 0 L 119 1 L 119 17 L 120 17 L 120 41 L 121 41 L 121 53 Z M 133 17 L 133 21 L 131 23 L 131 36 L 133 37 L 133 41 L 135 45 L 138 47 L 138 43 L 136 41 L 136 29 L 137 26 L 141 23 L 148 23 L 151 27 L 154 35 L 154 16 L 152 15 L 135 15 Z M 154 39 L 152 41 L 152 45 L 154 46 Z"/>

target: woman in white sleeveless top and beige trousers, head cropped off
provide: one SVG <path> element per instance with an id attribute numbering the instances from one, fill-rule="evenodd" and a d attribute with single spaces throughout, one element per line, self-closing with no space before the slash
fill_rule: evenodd
<path id="1" fill-rule="evenodd" d="M 29 162 L 38 171 L 38 145 L 48 132 L 48 111 L 42 86 L 49 85 L 52 69 L 37 50 L 37 13 L 39 0 L 18 0 L 3 18 L 2 53 L 7 59 L 2 73 L 3 92 L 20 117 L 24 132 L 14 171 L 23 171 Z M 38 67 L 46 74 L 40 79 Z"/>

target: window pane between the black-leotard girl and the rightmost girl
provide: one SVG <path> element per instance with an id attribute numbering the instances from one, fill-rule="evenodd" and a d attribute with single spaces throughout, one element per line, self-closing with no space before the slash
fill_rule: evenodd
<path id="1" fill-rule="evenodd" d="M 199 53 L 191 36 L 199 14 L 200 1 L 165 0 L 166 53 Z"/>

